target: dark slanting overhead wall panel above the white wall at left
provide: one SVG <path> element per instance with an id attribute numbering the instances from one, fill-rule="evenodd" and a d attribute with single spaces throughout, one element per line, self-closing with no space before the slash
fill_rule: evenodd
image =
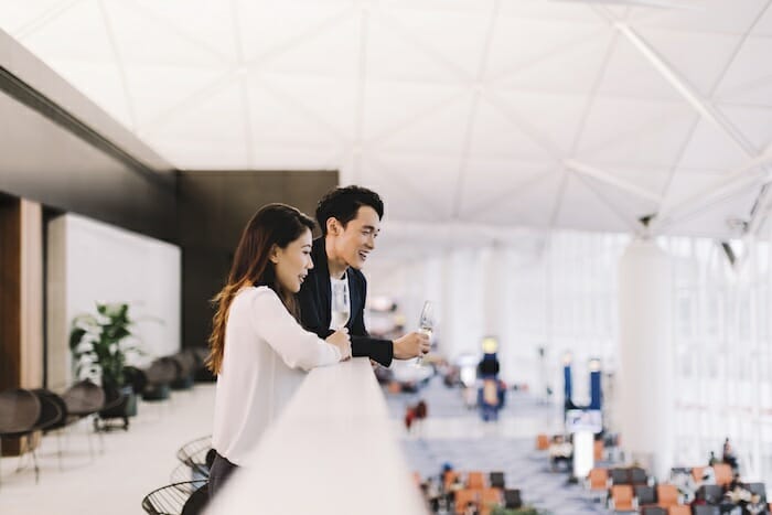
<path id="1" fill-rule="evenodd" d="M 175 175 L 132 168 L 0 93 L 0 191 L 175 242 Z"/>

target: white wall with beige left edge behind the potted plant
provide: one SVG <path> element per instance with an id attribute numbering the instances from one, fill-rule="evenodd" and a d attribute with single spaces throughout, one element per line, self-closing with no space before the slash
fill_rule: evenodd
<path id="1" fill-rule="evenodd" d="M 69 324 L 96 302 L 128 302 L 146 361 L 180 350 L 180 248 L 77 215 L 49 225 L 49 386 L 72 382 Z M 64 362 L 64 363 L 63 363 Z"/>

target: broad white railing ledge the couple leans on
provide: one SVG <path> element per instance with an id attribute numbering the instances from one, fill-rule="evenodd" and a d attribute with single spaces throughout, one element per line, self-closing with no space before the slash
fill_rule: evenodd
<path id="1" fill-rule="evenodd" d="M 367 358 L 309 373 L 207 514 L 426 514 Z"/>

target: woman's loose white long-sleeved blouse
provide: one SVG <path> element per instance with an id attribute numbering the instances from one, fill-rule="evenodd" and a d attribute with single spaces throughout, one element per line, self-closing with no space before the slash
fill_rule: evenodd
<path id="1" fill-rule="evenodd" d="M 212 446 L 243 464 L 300 386 L 304 371 L 340 360 L 337 347 L 303 330 L 274 290 L 240 290 L 225 325 Z"/>

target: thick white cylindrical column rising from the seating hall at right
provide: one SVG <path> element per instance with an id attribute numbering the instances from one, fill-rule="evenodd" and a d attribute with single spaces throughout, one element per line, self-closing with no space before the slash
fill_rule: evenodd
<path id="1" fill-rule="evenodd" d="M 619 266 L 622 448 L 657 479 L 674 455 L 673 309 L 669 256 L 654 240 L 630 244 Z"/>

